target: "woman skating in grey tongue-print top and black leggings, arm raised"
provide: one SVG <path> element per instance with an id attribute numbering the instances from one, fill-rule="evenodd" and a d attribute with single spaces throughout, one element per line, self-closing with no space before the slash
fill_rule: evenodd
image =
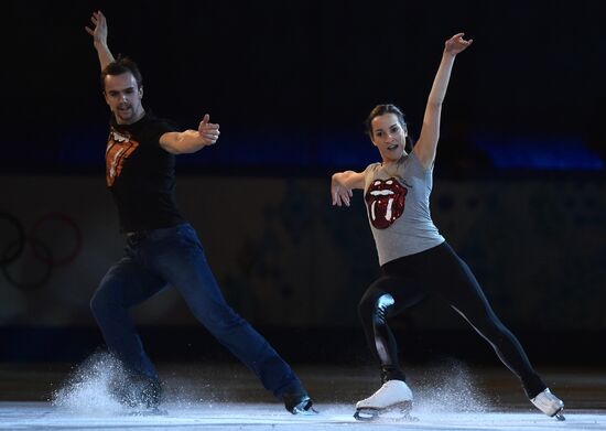
<path id="1" fill-rule="evenodd" d="M 364 294 L 359 314 L 368 345 L 380 364 L 383 385 L 356 405 L 357 419 L 372 419 L 386 409 L 412 406 L 412 392 L 400 369 L 396 341 L 386 320 L 433 293 L 444 298 L 493 345 L 504 364 L 520 378 L 537 408 L 564 419 L 564 403 L 532 369 L 520 343 L 495 315 L 467 265 L 431 219 L 429 201 L 442 103 L 456 55 L 473 42 L 463 35 L 455 34 L 445 43 L 414 149 L 407 151 L 411 142 L 400 109 L 379 105 L 366 125 L 381 162 L 370 164 L 364 172 L 339 172 L 332 179 L 333 205 L 349 206 L 351 191 L 365 191 L 382 271 L 382 277 Z"/>

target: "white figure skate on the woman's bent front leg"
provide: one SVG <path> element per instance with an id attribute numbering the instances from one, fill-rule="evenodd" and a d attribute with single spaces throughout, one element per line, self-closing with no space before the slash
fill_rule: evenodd
<path id="1" fill-rule="evenodd" d="M 388 411 L 400 411 L 403 417 L 410 418 L 412 409 L 412 391 L 402 380 L 388 380 L 370 397 L 356 403 L 354 418 L 361 421 L 377 419 Z"/>

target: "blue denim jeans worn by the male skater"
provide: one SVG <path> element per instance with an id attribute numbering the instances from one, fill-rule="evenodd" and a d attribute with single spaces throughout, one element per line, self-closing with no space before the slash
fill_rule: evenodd
<path id="1" fill-rule="evenodd" d="M 132 373 L 158 379 L 129 309 L 167 285 L 178 290 L 194 316 L 275 397 L 300 385 L 266 338 L 225 302 L 190 224 L 128 238 L 126 256 L 109 269 L 90 301 L 108 348 Z"/>

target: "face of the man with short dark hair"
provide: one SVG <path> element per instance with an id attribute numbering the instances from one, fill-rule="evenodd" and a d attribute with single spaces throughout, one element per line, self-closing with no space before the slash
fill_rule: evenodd
<path id="1" fill-rule="evenodd" d="M 143 88 L 137 86 L 137 79 L 130 72 L 105 77 L 105 100 L 116 116 L 119 125 L 132 125 L 145 114 L 141 99 Z"/>

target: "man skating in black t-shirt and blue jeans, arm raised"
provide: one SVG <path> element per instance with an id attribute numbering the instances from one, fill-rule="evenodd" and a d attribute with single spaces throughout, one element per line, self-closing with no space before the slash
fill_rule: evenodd
<path id="1" fill-rule="evenodd" d="M 174 155 L 214 144 L 219 126 L 205 115 L 197 130 L 175 131 L 145 112 L 139 68 L 129 58 L 113 58 L 107 45 L 107 21 L 91 17 L 101 66 L 101 85 L 111 110 L 106 150 L 106 179 L 126 233 L 126 256 L 112 266 L 90 306 L 105 341 L 131 376 L 129 406 L 155 408 L 161 385 L 129 315 L 166 285 L 176 288 L 196 319 L 246 364 L 292 413 L 313 411 L 312 400 L 290 366 L 269 343 L 225 302 L 193 227 L 174 202 Z M 133 390 L 134 388 L 134 390 Z"/>

